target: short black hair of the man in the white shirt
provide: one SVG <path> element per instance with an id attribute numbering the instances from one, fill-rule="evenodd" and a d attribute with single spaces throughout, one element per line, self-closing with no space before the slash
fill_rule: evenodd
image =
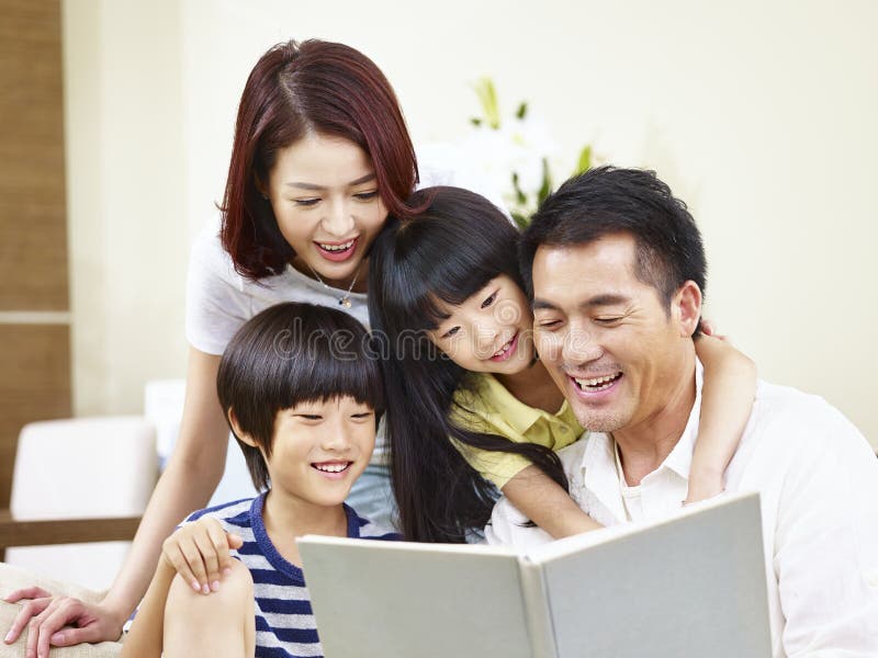
<path id="1" fill-rule="evenodd" d="M 707 260 L 701 234 L 686 204 L 654 171 L 597 167 L 549 195 L 521 236 L 519 262 L 533 298 L 533 258 L 545 247 L 581 247 L 629 234 L 637 245 L 634 275 L 668 307 L 686 281 L 705 293 Z"/>

